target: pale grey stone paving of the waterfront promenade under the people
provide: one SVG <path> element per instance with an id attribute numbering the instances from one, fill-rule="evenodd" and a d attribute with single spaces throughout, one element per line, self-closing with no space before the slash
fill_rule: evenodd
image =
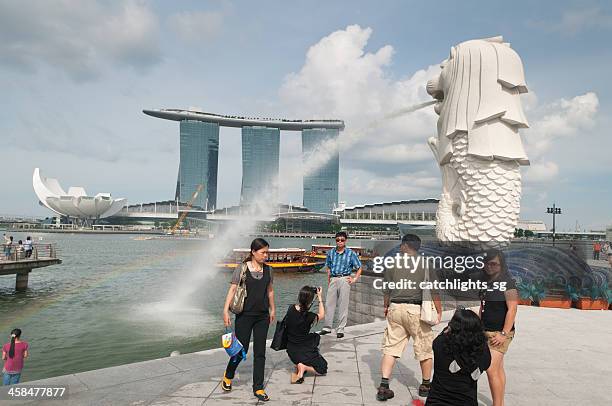
<path id="1" fill-rule="evenodd" d="M 445 313 L 448 319 L 450 313 Z M 442 323 L 446 325 L 446 323 Z M 384 322 L 352 326 L 343 339 L 322 337 L 329 363 L 327 376 L 289 383 L 292 364 L 284 351 L 268 349 L 266 390 L 269 405 L 370 405 L 380 381 L 380 342 Z M 440 331 L 442 326 L 437 327 Z M 506 404 L 612 404 L 612 311 L 519 308 L 517 334 L 506 356 Z M 67 385 L 68 399 L 30 405 L 255 405 L 252 359 L 238 368 L 234 389 L 222 392 L 219 379 L 227 362 L 222 349 L 82 372 L 26 384 Z M 410 405 L 419 399 L 421 376 L 412 346 L 396 365 L 386 405 Z M 479 404 L 491 405 L 486 375 L 479 383 Z M 422 399 L 425 400 L 425 399 Z M 2 402 L 0 402 L 2 403 Z M 2 404 L 25 402 L 5 401 Z"/>

